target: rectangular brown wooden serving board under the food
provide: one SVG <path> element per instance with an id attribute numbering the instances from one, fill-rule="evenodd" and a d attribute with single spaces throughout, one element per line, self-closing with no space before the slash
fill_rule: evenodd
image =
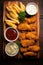
<path id="1" fill-rule="evenodd" d="M 4 22 L 4 19 L 5 19 L 5 14 L 6 14 L 5 7 L 6 7 L 6 4 L 8 2 L 9 1 L 4 2 L 4 8 L 3 8 L 3 33 L 4 33 L 5 29 L 6 29 L 6 23 Z M 13 3 L 14 2 L 15 1 L 13 1 Z M 22 1 L 22 2 L 26 5 L 29 2 L 29 0 L 27 0 L 26 2 L 25 1 Z M 37 4 L 39 6 L 39 3 L 37 3 Z M 40 12 L 39 12 L 39 10 L 38 10 L 38 13 L 37 13 L 36 17 L 37 17 L 37 21 L 36 21 L 36 25 L 37 25 L 37 36 L 39 38 L 39 33 L 40 33 Z M 11 57 L 7 56 L 6 53 L 5 53 L 5 46 L 6 46 L 6 44 L 7 44 L 7 41 L 5 39 L 3 39 L 3 57 L 4 58 L 11 58 Z M 39 40 L 37 42 L 37 45 L 39 46 Z M 38 52 L 36 58 L 39 58 L 39 57 L 40 57 L 40 52 Z M 18 56 L 13 57 L 13 58 L 22 58 L 22 56 L 20 54 L 18 54 Z"/>

